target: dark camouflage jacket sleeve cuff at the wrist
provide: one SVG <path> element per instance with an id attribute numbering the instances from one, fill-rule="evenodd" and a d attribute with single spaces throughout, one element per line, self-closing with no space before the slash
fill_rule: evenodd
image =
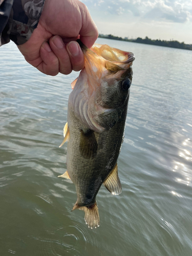
<path id="1" fill-rule="evenodd" d="M 24 44 L 37 27 L 45 0 L 0 0 L 0 46 Z"/>

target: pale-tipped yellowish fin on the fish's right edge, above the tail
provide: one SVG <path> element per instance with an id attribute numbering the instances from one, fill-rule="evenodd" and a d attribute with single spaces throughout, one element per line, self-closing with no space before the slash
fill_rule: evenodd
<path id="1" fill-rule="evenodd" d="M 122 192 L 121 182 L 118 176 L 118 167 L 117 163 L 113 168 L 110 176 L 106 178 L 103 182 L 103 185 L 108 189 L 113 195 L 119 195 Z"/>

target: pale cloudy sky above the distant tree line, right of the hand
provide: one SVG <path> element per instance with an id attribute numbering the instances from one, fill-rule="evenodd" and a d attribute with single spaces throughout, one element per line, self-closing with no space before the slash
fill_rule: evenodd
<path id="1" fill-rule="evenodd" d="M 100 34 L 192 44 L 192 0 L 81 0 Z"/>

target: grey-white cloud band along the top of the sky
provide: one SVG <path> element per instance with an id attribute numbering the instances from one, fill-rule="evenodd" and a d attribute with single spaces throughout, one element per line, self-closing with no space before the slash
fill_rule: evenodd
<path id="1" fill-rule="evenodd" d="M 95 4 L 97 11 L 116 16 L 126 17 L 131 13 L 141 19 L 176 23 L 192 20 L 191 0 L 82 0 L 82 2 L 88 8 Z"/>

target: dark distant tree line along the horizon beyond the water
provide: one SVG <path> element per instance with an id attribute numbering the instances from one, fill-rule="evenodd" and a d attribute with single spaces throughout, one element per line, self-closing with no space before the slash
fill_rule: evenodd
<path id="1" fill-rule="evenodd" d="M 130 41 L 130 42 L 138 42 L 140 44 L 147 44 L 147 45 L 155 45 L 155 46 L 165 46 L 165 47 L 172 47 L 172 48 L 179 48 L 179 49 L 185 49 L 185 50 L 192 50 L 192 45 L 186 45 L 184 42 L 179 42 L 176 40 L 166 41 L 166 40 L 152 40 L 148 38 L 147 36 L 145 39 L 142 39 L 141 37 L 138 37 L 137 39 L 128 39 L 128 38 L 122 38 L 114 35 L 101 35 L 99 34 L 99 37 L 102 38 L 108 38 L 108 39 L 114 39 L 114 40 L 120 40 L 120 41 Z"/>

